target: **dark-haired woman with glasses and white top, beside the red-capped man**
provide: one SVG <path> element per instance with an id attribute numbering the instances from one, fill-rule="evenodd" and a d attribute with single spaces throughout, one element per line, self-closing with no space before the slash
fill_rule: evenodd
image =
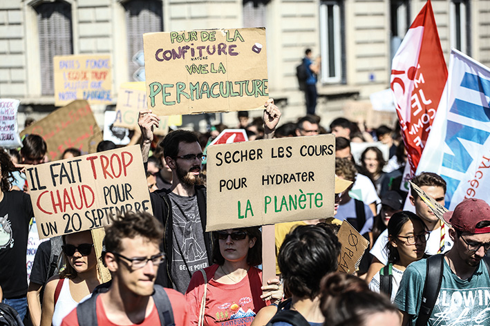
<path id="1" fill-rule="evenodd" d="M 422 219 L 411 211 L 401 211 L 388 222 L 388 265 L 369 283 L 370 289 L 383 292 L 393 302 L 408 265 L 425 256 L 428 231 Z"/>

